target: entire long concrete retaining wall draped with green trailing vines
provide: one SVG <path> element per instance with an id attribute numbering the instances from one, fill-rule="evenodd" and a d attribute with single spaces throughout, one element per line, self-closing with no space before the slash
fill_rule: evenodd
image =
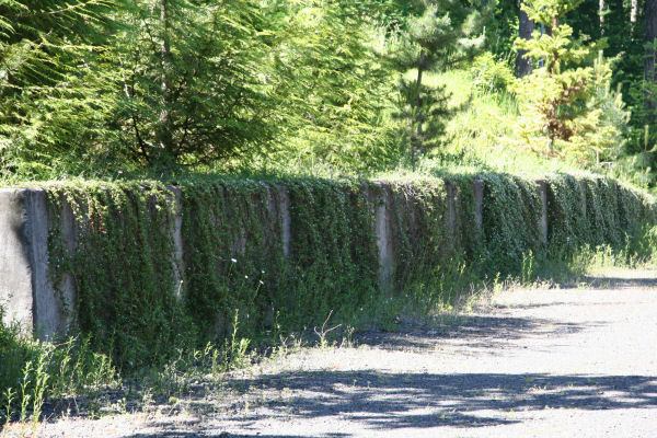
<path id="1" fill-rule="evenodd" d="M 656 211 L 612 180 L 561 174 L 56 184 L 0 191 L 2 206 L 0 244 L 23 249 L 0 251 L 7 318 L 89 334 L 126 366 L 220 339 L 235 319 L 243 335 L 298 330 L 382 292 L 429 293 L 416 286 L 464 266 L 491 277 L 529 251 L 624 247 Z"/>

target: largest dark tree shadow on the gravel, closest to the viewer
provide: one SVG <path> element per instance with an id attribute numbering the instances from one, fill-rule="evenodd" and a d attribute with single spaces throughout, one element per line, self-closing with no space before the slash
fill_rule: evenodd
<path id="1" fill-rule="evenodd" d="M 253 435 L 212 435 L 162 431 L 151 437 L 270 437 L 256 435 L 254 424 L 267 418 L 324 420 L 328 417 L 359 423 L 365 429 L 472 428 L 519 423 L 515 413 L 545 408 L 619 410 L 657 406 L 657 379 L 646 376 L 549 376 L 540 373 L 385 373 L 374 371 L 316 371 L 262 376 L 229 381 L 237 396 L 232 410 L 257 392 L 260 406 L 227 420 L 231 428 Z M 263 396 L 266 394 L 265 396 Z M 196 404 L 197 414 L 212 412 Z M 158 427 L 166 430 L 165 424 Z M 172 426 L 173 427 L 173 426 Z M 176 435 L 177 434 L 177 435 Z M 187 435 L 185 435 L 187 434 Z M 348 435 L 335 435 L 348 436 Z M 291 437 L 291 436 L 289 436 Z M 311 436 L 295 436 L 311 438 Z"/>

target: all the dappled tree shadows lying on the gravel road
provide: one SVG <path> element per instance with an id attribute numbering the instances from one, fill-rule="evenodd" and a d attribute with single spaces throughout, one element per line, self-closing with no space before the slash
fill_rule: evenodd
<path id="1" fill-rule="evenodd" d="M 591 276 L 586 281 L 604 289 L 657 287 L 655 278 Z M 570 306 L 563 302 L 535 306 L 565 304 Z M 454 339 L 460 345 L 485 353 L 506 348 L 512 339 L 535 335 L 567 336 L 592 325 L 598 323 L 577 324 L 506 315 L 449 315 L 422 325 L 402 323 L 395 333 L 360 333 L 356 343 L 382 349 L 422 351 L 434 349 L 445 339 Z M 470 360 L 476 360 L 476 357 Z M 286 422 L 291 418 L 308 422 L 341 418 L 357 423 L 360 429 L 400 430 L 400 436 L 403 436 L 407 428 L 504 426 L 521 422 L 521 416 L 514 413 L 526 411 L 612 411 L 657 406 L 657 378 L 654 376 L 328 370 L 227 378 L 222 384 L 231 395 L 221 401 L 208 400 L 204 383 L 192 388 L 188 395 L 188 406 L 198 418 L 214 418 L 218 415 L 217 403 L 222 405 L 222 414 L 218 415 L 219 423 L 215 426 L 212 420 L 199 420 L 194 427 L 185 427 L 176 424 L 175 418 L 160 419 L 151 425 L 159 430 L 157 434 L 137 434 L 129 438 L 314 438 L 312 435 L 290 435 L 290 430 L 276 435 L 266 428 L 258 429 L 267 420 Z M 245 408 L 246 403 L 250 408 Z M 240 430 L 240 434 L 228 435 L 218 425 L 230 425 L 229 429 Z"/>

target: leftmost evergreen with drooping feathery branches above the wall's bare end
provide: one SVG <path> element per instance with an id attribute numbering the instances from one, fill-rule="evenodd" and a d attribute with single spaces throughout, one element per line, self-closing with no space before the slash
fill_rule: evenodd
<path id="1" fill-rule="evenodd" d="M 74 166 L 107 131 L 99 92 L 112 0 L 0 2 L 0 176 Z M 71 159 L 77 155 L 77 159 Z"/>

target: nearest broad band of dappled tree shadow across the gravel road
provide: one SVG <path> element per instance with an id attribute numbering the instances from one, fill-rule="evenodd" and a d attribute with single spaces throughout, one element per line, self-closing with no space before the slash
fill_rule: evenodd
<path id="1" fill-rule="evenodd" d="M 657 380 L 645 376 L 546 376 L 463 373 L 387 373 L 316 371 L 234 380 L 233 388 L 302 391 L 295 399 L 298 415 L 358 414 L 377 423 L 380 414 L 427 406 L 473 411 L 523 411 L 549 407 L 610 410 L 657 406 Z M 277 406 L 276 402 L 272 406 Z M 362 414 L 369 414 L 364 416 Z M 454 416 L 454 419 L 456 418 Z M 387 427 L 402 427 L 405 416 L 389 418 Z"/>

